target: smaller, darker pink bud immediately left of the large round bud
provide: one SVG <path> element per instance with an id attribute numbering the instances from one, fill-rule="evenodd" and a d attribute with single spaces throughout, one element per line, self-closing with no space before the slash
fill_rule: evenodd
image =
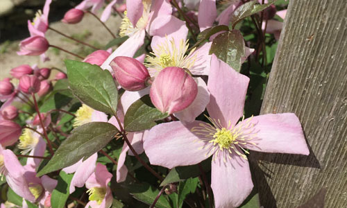
<path id="1" fill-rule="evenodd" d="M 151 78 L 144 64 L 126 56 L 117 56 L 110 63 L 115 78 L 121 87 L 128 91 L 138 91 L 146 87 L 146 82 Z"/>

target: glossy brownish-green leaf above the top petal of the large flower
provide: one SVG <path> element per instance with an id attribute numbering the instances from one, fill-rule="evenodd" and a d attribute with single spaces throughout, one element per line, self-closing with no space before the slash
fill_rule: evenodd
<path id="1" fill-rule="evenodd" d="M 232 30 L 219 34 L 212 42 L 210 54 L 212 53 L 239 72 L 241 58 L 245 56 L 244 37 L 242 37 L 241 32 Z"/>

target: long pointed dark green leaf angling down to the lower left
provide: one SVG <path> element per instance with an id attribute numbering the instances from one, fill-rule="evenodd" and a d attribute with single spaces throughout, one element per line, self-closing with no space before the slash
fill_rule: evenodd
<path id="1" fill-rule="evenodd" d="M 59 146 L 52 159 L 37 176 L 57 171 L 87 159 L 101 150 L 117 134 L 115 125 L 106 122 L 85 123 L 71 131 L 71 135 Z"/>

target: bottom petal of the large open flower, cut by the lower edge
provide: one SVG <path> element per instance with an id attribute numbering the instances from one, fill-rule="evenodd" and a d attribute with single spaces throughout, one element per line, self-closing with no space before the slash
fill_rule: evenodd
<path id="1" fill-rule="evenodd" d="M 218 208 L 238 207 L 253 189 L 248 161 L 233 153 L 212 159 L 211 187 Z M 225 162 L 224 162 L 225 161 Z"/>

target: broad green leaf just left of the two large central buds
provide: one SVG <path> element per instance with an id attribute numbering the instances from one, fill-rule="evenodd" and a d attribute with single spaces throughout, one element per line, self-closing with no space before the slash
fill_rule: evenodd
<path id="1" fill-rule="evenodd" d="M 118 91 L 110 71 L 74 60 L 65 60 L 65 64 L 74 95 L 95 110 L 115 114 Z"/>

